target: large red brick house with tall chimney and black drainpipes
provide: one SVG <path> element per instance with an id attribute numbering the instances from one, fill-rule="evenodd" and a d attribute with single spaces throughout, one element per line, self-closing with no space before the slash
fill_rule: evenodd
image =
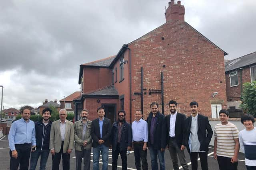
<path id="1" fill-rule="evenodd" d="M 190 114 L 196 100 L 200 113 L 216 117 L 226 104 L 225 51 L 184 21 L 184 6 L 169 2 L 166 23 L 124 44 L 117 55 L 81 64 L 81 104 L 90 119 L 104 106 L 106 117 L 116 119 L 119 109 L 134 120 L 138 109 L 146 119 L 150 103 L 158 102 L 169 114 L 168 102 L 176 100 L 179 111 Z"/>

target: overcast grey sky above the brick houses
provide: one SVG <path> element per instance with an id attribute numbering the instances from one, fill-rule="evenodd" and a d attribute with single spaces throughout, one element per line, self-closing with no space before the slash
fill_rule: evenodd
<path id="1" fill-rule="evenodd" d="M 4 109 L 38 107 L 80 91 L 79 65 L 116 55 L 123 44 L 165 23 L 168 1 L 1 0 Z M 229 53 L 225 59 L 256 51 L 255 0 L 181 4 L 185 21 Z"/>

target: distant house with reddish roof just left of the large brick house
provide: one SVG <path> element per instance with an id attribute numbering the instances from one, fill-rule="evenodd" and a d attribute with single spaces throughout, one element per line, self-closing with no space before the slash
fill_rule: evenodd
<path id="1" fill-rule="evenodd" d="M 81 92 L 74 92 L 69 96 L 67 96 L 66 98 L 63 98 L 62 100 L 60 100 L 60 109 L 66 109 L 68 114 L 74 113 L 75 106 L 74 106 L 73 100 L 79 97 L 80 95 L 81 95 Z"/>

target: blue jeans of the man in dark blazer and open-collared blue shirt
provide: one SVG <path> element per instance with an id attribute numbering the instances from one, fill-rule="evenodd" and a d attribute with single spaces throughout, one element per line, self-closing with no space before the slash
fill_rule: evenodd
<path id="1" fill-rule="evenodd" d="M 102 170 L 108 170 L 108 147 L 104 144 L 99 145 L 96 148 L 92 148 L 93 151 L 93 170 L 100 170 L 99 160 L 100 160 L 100 152 L 102 156 Z"/>

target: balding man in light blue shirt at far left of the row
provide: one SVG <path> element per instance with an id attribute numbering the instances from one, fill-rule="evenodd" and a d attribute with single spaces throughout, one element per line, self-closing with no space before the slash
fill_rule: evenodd
<path id="1" fill-rule="evenodd" d="M 24 107 L 22 118 L 14 121 L 8 135 L 10 146 L 10 170 L 28 170 L 31 145 L 36 148 L 35 123 L 30 120 L 30 109 Z M 34 152 L 34 149 L 32 149 Z"/>

